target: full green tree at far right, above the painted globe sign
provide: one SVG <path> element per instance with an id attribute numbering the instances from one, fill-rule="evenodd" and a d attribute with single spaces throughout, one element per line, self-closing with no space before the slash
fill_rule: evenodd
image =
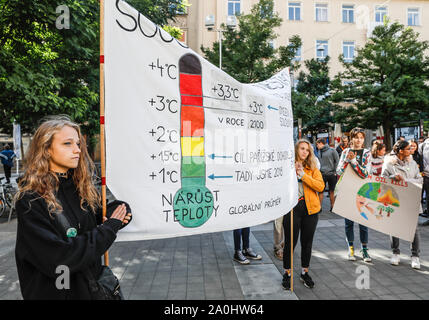
<path id="1" fill-rule="evenodd" d="M 377 26 L 352 62 L 339 57 L 345 71 L 333 81 L 336 121 L 349 128 L 381 125 L 390 148 L 395 127 L 428 111 L 428 48 L 410 27 L 388 21 Z"/>

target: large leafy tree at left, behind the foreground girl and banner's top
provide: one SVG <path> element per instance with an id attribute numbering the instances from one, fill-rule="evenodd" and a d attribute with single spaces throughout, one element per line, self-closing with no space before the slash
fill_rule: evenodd
<path id="1" fill-rule="evenodd" d="M 130 3 L 160 25 L 185 4 Z M 57 29 L 60 5 L 69 8 L 69 29 Z M 98 0 L 0 0 L 0 131 L 10 134 L 16 121 L 32 133 L 43 117 L 67 114 L 91 139 L 99 132 L 99 55 Z"/>

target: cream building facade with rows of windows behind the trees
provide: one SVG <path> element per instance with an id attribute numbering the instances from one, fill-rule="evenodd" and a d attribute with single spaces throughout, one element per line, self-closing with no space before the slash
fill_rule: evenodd
<path id="1" fill-rule="evenodd" d="M 218 41 L 218 32 L 205 27 L 209 15 L 215 17 L 214 29 L 226 23 L 227 17 L 248 14 L 258 0 L 189 0 L 186 13 L 178 17 L 177 25 L 184 31 L 184 41 L 198 53 L 201 45 L 210 47 Z M 338 56 L 352 60 L 356 49 L 363 46 L 372 30 L 388 17 L 410 26 L 429 40 L 429 0 L 274 0 L 274 10 L 283 19 L 276 30 L 275 47 L 287 45 L 293 35 L 299 35 L 302 47 L 296 59 L 331 57 L 330 73 L 341 70 Z"/>

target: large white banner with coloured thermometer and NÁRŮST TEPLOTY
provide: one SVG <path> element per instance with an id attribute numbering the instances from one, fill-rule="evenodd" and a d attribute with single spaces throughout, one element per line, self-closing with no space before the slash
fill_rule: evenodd
<path id="1" fill-rule="evenodd" d="M 106 182 L 119 240 L 274 220 L 297 203 L 289 70 L 242 84 L 123 1 L 105 2 Z"/>

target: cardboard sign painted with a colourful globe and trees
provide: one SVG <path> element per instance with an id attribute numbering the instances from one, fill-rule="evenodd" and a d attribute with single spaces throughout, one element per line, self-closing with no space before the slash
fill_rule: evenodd
<path id="1" fill-rule="evenodd" d="M 413 241 L 421 188 L 371 175 L 362 179 L 350 166 L 338 183 L 334 213 L 382 233 Z"/>

